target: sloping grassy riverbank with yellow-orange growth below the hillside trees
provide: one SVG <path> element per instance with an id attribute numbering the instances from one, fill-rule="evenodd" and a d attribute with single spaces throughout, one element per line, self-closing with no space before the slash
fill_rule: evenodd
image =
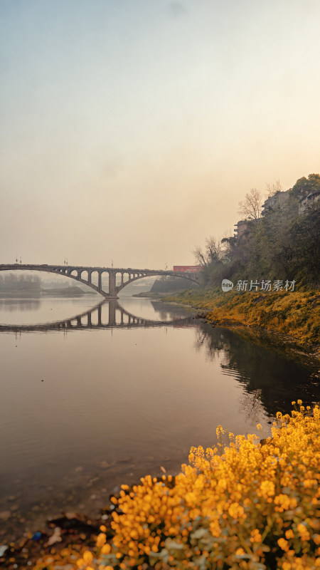
<path id="1" fill-rule="evenodd" d="M 166 297 L 166 301 L 201 309 L 213 324 L 274 333 L 319 358 L 320 293 L 316 289 L 268 293 L 198 289 Z"/>

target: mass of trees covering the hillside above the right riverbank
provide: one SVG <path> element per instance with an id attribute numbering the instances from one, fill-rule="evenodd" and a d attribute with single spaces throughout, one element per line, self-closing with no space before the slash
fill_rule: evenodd
<path id="1" fill-rule="evenodd" d="M 279 181 L 267 185 L 279 192 Z M 240 202 L 246 220 L 245 239 L 226 235 L 221 242 L 206 239 L 205 249 L 193 254 L 203 265 L 201 279 L 205 286 L 218 286 L 221 279 L 296 280 L 300 284 L 319 284 L 320 201 L 302 214 L 299 199 L 320 190 L 320 175 L 297 180 L 287 192 L 282 207 L 270 209 L 260 218 L 261 195 L 253 188 Z M 260 219 L 259 219 L 260 218 Z M 259 222 L 257 222 L 259 219 Z"/>

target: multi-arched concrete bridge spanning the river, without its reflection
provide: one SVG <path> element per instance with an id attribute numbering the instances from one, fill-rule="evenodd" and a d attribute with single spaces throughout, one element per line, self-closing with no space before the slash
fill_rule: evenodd
<path id="1" fill-rule="evenodd" d="M 114 267 L 89 267 L 89 266 L 78 266 L 78 265 L 36 265 L 36 264 L 0 264 L 0 271 L 44 271 L 46 273 L 53 273 L 55 275 L 63 275 L 65 277 L 70 277 L 70 279 L 75 279 L 91 287 L 100 293 L 105 299 L 117 299 L 119 291 L 121 291 L 126 285 L 137 281 L 137 279 L 143 279 L 144 277 L 150 276 L 173 276 L 173 277 L 183 277 L 189 281 L 193 281 L 196 284 L 200 282 L 201 273 L 191 272 L 191 271 L 162 271 L 161 269 L 132 269 L 131 267 L 124 268 L 114 268 Z M 102 289 L 102 275 L 108 275 L 109 292 L 106 293 Z M 92 283 L 92 276 L 97 276 L 97 285 Z M 120 278 L 120 284 L 117 285 L 117 276 Z"/>

